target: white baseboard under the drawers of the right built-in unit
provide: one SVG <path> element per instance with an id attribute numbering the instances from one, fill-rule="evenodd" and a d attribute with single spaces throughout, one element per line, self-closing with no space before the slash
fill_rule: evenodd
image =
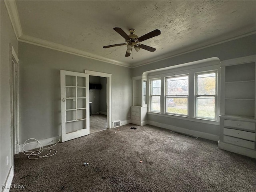
<path id="1" fill-rule="evenodd" d="M 247 149 L 247 148 L 244 148 L 244 147 L 240 147 L 240 146 L 236 146 L 236 145 L 232 145 L 232 144 L 228 144 L 228 143 L 224 143 L 224 142 L 219 141 L 218 142 L 218 148 L 226 150 L 226 151 L 230 151 L 230 152 L 233 152 L 233 153 L 238 153 L 240 155 L 256 158 L 256 151 L 255 150 Z"/>

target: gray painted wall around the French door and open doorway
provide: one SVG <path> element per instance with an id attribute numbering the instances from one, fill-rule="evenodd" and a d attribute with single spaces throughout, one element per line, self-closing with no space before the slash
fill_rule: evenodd
<path id="1" fill-rule="evenodd" d="M 60 70 L 112 74 L 112 121 L 127 120 L 132 104 L 131 69 L 19 42 L 20 144 L 61 134 Z"/>

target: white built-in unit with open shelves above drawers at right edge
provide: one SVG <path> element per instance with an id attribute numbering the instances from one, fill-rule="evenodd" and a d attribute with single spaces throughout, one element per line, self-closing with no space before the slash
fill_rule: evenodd
<path id="1" fill-rule="evenodd" d="M 256 158 L 256 55 L 221 66 L 218 148 Z"/>

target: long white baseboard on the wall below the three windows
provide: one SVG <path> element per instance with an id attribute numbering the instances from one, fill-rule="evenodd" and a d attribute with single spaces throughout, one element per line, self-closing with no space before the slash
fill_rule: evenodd
<path id="1" fill-rule="evenodd" d="M 163 124 L 163 123 L 159 123 L 159 122 L 155 122 L 155 121 L 147 121 L 147 122 L 150 125 L 165 128 L 165 129 L 168 129 L 168 130 L 173 130 L 173 131 L 193 135 L 193 136 L 196 136 L 196 137 L 200 137 L 200 138 L 204 138 L 204 139 L 208 139 L 208 140 L 212 140 L 212 141 L 218 141 L 219 140 L 218 135 L 204 133 L 204 132 L 200 132 L 200 131 L 189 130 L 189 129 L 176 127 L 176 126 L 172 126 L 172 125 L 168 125 L 168 124 Z"/>

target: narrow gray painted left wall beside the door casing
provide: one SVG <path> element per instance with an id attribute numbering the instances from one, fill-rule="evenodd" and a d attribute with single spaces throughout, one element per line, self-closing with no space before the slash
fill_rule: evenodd
<path id="1" fill-rule="evenodd" d="M 6 178 L 13 166 L 13 148 L 11 146 L 11 115 L 10 115 L 10 54 L 9 44 L 12 44 L 16 54 L 18 54 L 18 41 L 12 29 L 12 24 L 8 16 L 4 1 L 0 1 L 1 15 L 1 70 L 0 70 L 0 83 L 1 83 L 1 97 L 0 97 L 0 185 L 6 182 Z M 9 164 L 6 165 L 6 157 Z M 2 188 L 1 188 L 2 190 Z"/>

